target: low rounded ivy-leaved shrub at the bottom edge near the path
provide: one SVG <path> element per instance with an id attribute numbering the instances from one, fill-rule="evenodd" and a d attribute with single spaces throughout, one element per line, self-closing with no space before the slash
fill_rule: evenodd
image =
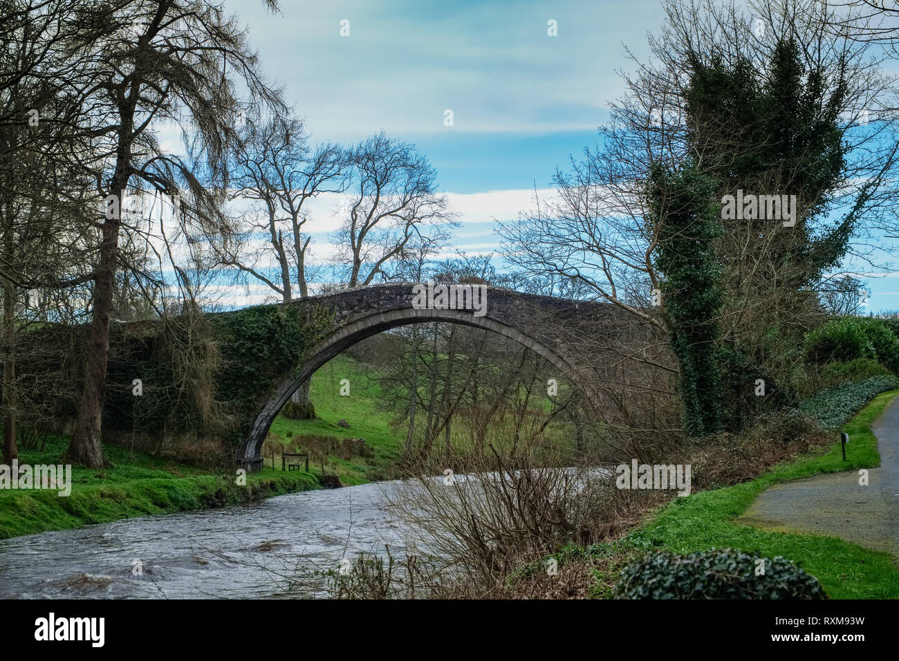
<path id="1" fill-rule="evenodd" d="M 736 549 L 681 556 L 659 552 L 630 563 L 616 586 L 619 599 L 824 599 L 814 576 L 786 558 L 758 560 Z"/>

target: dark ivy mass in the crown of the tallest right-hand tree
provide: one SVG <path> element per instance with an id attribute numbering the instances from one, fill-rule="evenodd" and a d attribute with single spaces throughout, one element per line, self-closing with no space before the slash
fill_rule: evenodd
<path id="1" fill-rule="evenodd" d="M 693 65 L 687 138 L 702 156 L 703 172 L 717 180 L 717 197 L 738 189 L 797 196 L 793 227 L 785 227 L 783 218 L 757 218 L 732 219 L 727 228 L 741 241 L 752 239 L 743 262 L 763 257 L 782 267 L 773 283 L 780 289 L 813 284 L 839 264 L 859 220 L 861 204 L 825 231 L 814 231 L 814 221 L 834 206 L 846 165 L 840 118 L 845 70 L 839 60 L 807 67 L 792 36 L 777 40 L 765 62 L 711 58 Z"/>

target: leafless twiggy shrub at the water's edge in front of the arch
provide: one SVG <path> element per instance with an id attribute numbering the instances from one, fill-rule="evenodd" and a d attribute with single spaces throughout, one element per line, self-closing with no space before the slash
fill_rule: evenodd
<path id="1" fill-rule="evenodd" d="M 396 483 L 387 503 L 410 533 L 407 542 L 441 558 L 454 576 L 503 590 L 521 567 L 539 563 L 572 543 L 586 546 L 639 523 L 658 489 L 619 489 L 589 457 L 572 468 L 560 447 L 538 451 L 532 440 L 514 451 L 498 440 L 472 450 L 449 480 L 437 457 L 408 464 L 410 479 Z M 514 467 L 514 468 L 512 468 Z M 438 475 L 438 478 L 432 476 Z M 561 563 L 560 563 L 561 564 Z"/>

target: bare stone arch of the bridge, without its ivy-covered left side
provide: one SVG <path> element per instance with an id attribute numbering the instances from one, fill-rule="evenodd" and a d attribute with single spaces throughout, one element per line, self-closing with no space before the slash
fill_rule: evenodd
<path id="1" fill-rule="evenodd" d="M 433 285 L 429 299 L 428 286 L 408 282 L 374 285 L 277 304 L 325 308 L 331 321 L 298 367 L 273 383 L 253 423 L 245 429 L 238 464 L 250 471 L 261 468 L 260 451 L 272 420 L 313 372 L 352 344 L 396 326 L 441 321 L 503 335 L 545 358 L 559 375 L 574 380 L 587 400 L 595 402 L 595 377 L 584 373 L 584 365 L 590 364 L 586 356 L 595 357 L 599 335 L 617 335 L 617 329 L 631 323 L 608 303 L 557 299 L 481 285 L 449 285 L 463 289 L 448 290 L 442 297 L 440 285 Z M 483 289 L 477 290 L 478 287 Z M 478 294 L 484 298 L 479 299 Z"/>

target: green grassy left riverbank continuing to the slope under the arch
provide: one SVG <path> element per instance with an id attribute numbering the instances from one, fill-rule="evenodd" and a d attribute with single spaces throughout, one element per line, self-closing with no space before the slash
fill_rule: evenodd
<path id="1" fill-rule="evenodd" d="M 342 379 L 351 380 L 350 397 L 339 394 Z M 330 456 L 325 460 L 326 469 L 336 472 L 348 485 L 378 478 L 399 450 L 396 433 L 389 428 L 390 416 L 376 406 L 378 384 L 369 383 L 352 358 L 339 356 L 316 372 L 311 397 L 320 419 L 279 416 L 271 425 L 271 438 L 285 442 L 304 434 L 336 441 L 364 438 L 373 457 L 346 460 Z M 337 425 L 341 418 L 350 421 L 350 429 Z M 66 437 L 52 436 L 40 450 L 21 449 L 19 463 L 56 465 L 68 442 Z M 315 463 L 310 465 L 310 473 L 282 471 L 278 457 L 276 469 L 271 469 L 267 459 L 261 472 L 246 476 L 246 485 L 239 486 L 236 471 L 215 474 L 113 445 L 105 445 L 103 451 L 110 467 L 98 471 L 74 466 L 69 496 L 58 496 L 57 490 L 49 489 L 0 489 L 0 539 L 147 514 L 250 503 L 317 488 L 314 473 L 320 472 Z"/>

